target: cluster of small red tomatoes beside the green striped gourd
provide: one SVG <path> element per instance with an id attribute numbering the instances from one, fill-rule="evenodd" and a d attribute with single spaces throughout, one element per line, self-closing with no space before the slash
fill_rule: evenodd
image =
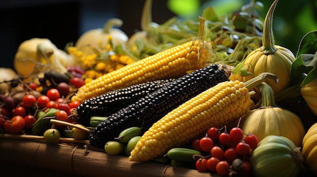
<path id="1" fill-rule="evenodd" d="M 239 127 L 232 128 L 229 133 L 226 127 L 222 129 L 212 127 L 208 129 L 205 137 L 197 138 L 192 142 L 194 150 L 207 153 L 196 161 L 196 169 L 216 172 L 219 175 L 233 173 L 235 176 L 249 176 L 250 152 L 258 145 L 257 136 L 244 134 Z M 244 135 L 246 136 L 243 139 Z"/>

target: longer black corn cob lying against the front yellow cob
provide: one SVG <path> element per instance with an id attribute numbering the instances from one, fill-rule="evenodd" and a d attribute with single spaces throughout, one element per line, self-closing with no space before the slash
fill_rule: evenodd
<path id="1" fill-rule="evenodd" d="M 220 82 L 228 81 L 229 75 L 230 71 L 228 72 L 225 66 L 219 69 L 219 65 L 214 64 L 177 79 L 108 116 L 107 120 L 92 129 L 89 136 L 90 145 L 102 148 L 129 127 L 143 126 L 144 130 L 147 130 L 190 98 Z"/>

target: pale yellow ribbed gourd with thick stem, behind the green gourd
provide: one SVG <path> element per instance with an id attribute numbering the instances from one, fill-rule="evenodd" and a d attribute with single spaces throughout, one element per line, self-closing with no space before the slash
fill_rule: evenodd
<path id="1" fill-rule="evenodd" d="M 255 134 L 259 141 L 269 135 L 284 136 L 296 146 L 301 146 L 305 135 L 301 119 L 295 113 L 275 105 L 270 85 L 264 82 L 259 87 L 262 104 L 243 117 L 241 121 L 243 132 Z"/>

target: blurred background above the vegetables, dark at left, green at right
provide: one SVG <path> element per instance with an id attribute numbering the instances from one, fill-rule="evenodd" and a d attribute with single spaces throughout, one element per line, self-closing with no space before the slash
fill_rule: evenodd
<path id="1" fill-rule="evenodd" d="M 145 0 L 2 0 L 0 1 L 0 67 L 13 68 L 20 43 L 38 37 L 50 39 L 63 49 L 85 31 L 102 28 L 110 18 L 124 21 L 121 29 L 131 36 L 141 30 Z M 204 8 L 213 6 L 219 16 L 239 10 L 250 0 L 153 0 L 152 20 L 162 24 L 174 16 L 196 20 Z M 264 19 L 272 0 L 259 0 Z M 301 37 L 317 30 L 317 1 L 280 1 L 274 11 L 275 44 L 296 54 Z"/>

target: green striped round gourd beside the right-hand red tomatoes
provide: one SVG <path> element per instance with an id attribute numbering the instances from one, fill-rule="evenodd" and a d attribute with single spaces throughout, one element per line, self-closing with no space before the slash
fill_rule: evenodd
<path id="1" fill-rule="evenodd" d="M 290 139 L 270 135 L 259 142 L 250 162 L 255 177 L 297 176 L 303 156 Z"/>

